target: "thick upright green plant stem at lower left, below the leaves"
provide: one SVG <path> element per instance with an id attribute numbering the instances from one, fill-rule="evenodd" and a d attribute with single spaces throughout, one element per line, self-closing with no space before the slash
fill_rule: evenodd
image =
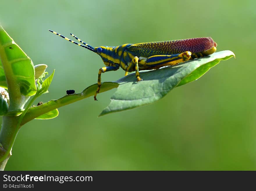
<path id="1" fill-rule="evenodd" d="M 19 117 L 17 116 L 3 116 L 2 128 L 0 131 L 0 143 L 3 148 L 0 149 L 0 158 L 7 154 L 7 157 L 0 162 L 0 170 L 4 170 L 8 159 L 11 156 L 11 151 L 8 148 L 13 147 L 14 140 L 18 133 L 19 126 L 17 126 Z"/>

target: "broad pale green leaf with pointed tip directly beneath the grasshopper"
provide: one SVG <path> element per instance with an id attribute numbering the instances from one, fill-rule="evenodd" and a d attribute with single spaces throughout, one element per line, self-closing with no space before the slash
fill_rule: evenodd
<path id="1" fill-rule="evenodd" d="M 129 74 L 116 81 L 117 91 L 111 102 L 99 116 L 153 103 L 170 90 L 200 78 L 221 60 L 234 56 L 230 50 L 216 52 L 207 57 L 193 59 L 175 66 L 140 72 L 143 81 L 136 82 L 135 74 Z"/>

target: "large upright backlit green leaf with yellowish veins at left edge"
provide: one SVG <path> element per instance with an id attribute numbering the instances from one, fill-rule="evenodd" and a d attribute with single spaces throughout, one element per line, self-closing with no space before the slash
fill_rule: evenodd
<path id="1" fill-rule="evenodd" d="M 36 93 L 35 70 L 31 59 L 0 26 L 0 86 L 10 97 L 32 96 Z M 20 90 L 18 92 L 17 90 Z"/>

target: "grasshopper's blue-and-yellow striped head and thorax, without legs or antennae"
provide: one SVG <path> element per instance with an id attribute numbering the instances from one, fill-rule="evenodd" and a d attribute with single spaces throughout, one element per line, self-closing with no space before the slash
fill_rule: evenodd
<path id="1" fill-rule="evenodd" d="M 120 64 L 124 51 L 130 45 L 131 44 L 123 44 L 120 46 L 100 46 L 95 47 L 94 50 L 99 54 L 106 66 L 112 66 L 114 64 Z"/>

